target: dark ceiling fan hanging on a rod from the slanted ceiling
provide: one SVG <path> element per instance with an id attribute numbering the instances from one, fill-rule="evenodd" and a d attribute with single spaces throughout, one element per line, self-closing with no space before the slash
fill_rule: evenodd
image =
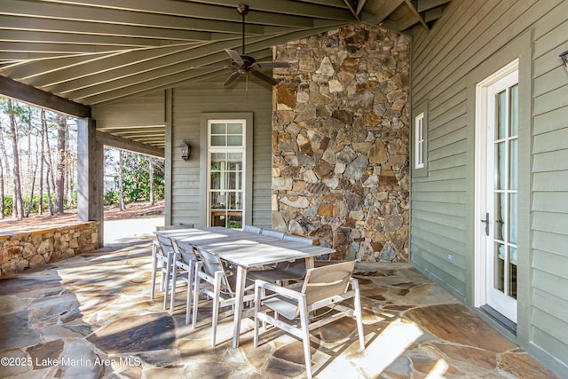
<path id="1" fill-rule="evenodd" d="M 236 68 L 236 71 L 225 80 L 223 85 L 229 85 L 235 81 L 239 75 L 255 75 L 257 78 L 264 80 L 264 82 L 276 85 L 280 83 L 279 79 L 273 78 L 271 75 L 266 75 L 260 71 L 262 69 L 272 69 L 276 67 L 290 67 L 288 62 L 256 62 L 256 59 L 245 54 L 245 16 L 248 14 L 248 5 L 239 4 L 237 12 L 242 15 L 242 54 L 231 49 L 225 49 L 226 53 L 231 57 L 231 66 L 229 68 Z"/>

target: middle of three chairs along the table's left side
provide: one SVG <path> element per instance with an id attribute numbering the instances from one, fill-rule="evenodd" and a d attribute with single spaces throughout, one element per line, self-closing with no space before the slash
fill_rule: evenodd
<path id="1" fill-rule="evenodd" d="M 176 301 L 177 280 L 185 281 L 187 284 L 187 296 L 185 298 L 185 325 L 189 324 L 189 310 L 192 304 L 193 272 L 199 257 L 195 253 L 193 246 L 188 243 L 170 240 L 171 247 L 174 249 L 175 257 L 172 258 L 171 273 L 171 302 L 170 312 L 173 312 Z"/>

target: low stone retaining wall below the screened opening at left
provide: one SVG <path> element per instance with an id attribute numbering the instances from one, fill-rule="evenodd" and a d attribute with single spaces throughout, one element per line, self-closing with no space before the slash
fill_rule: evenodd
<path id="1" fill-rule="evenodd" d="M 99 249 L 99 222 L 0 233 L 0 277 Z"/>

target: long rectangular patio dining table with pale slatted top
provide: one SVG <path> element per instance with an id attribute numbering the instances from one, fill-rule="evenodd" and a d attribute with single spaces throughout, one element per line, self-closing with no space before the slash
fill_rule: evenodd
<path id="1" fill-rule="evenodd" d="M 154 232 L 170 239 L 206 250 L 237 267 L 236 301 L 233 323 L 233 347 L 239 347 L 243 298 L 248 269 L 279 262 L 305 259 L 306 268 L 312 268 L 315 257 L 335 253 L 335 249 L 307 245 L 302 242 L 280 240 L 263 234 L 242 232 L 225 227 L 203 227 Z"/>

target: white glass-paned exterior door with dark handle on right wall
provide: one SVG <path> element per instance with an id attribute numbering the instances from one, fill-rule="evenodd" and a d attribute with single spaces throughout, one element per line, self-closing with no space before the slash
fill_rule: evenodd
<path id="1" fill-rule="evenodd" d="M 486 85 L 483 101 L 477 269 L 485 272 L 477 275 L 477 305 L 517 323 L 518 71 Z"/>

